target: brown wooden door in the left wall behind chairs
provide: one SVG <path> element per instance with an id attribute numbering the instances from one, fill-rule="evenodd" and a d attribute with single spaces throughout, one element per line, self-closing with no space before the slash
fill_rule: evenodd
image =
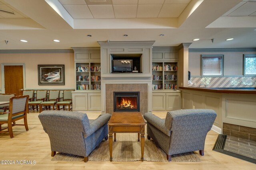
<path id="1" fill-rule="evenodd" d="M 4 66 L 4 92 L 22 95 L 23 66 Z"/>

